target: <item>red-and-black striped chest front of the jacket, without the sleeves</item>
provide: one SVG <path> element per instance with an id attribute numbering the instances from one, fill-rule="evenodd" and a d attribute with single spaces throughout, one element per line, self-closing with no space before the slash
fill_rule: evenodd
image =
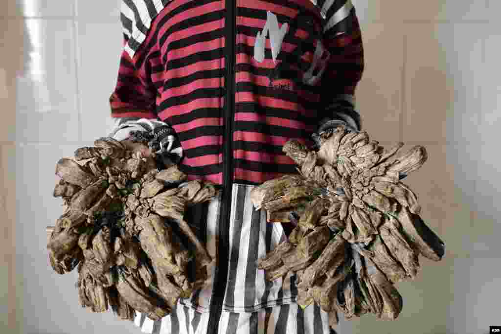
<path id="1" fill-rule="evenodd" d="M 177 133 L 184 153 L 179 168 L 188 179 L 222 184 L 231 160 L 233 182 L 258 185 L 297 173 L 282 152 L 289 139 L 313 145 L 330 57 L 321 42 L 322 6 L 236 0 L 231 22 L 226 3 L 157 4 L 161 10 L 143 42 L 155 49 L 139 62 L 154 72 L 157 115 Z M 231 156 L 224 154 L 228 144 Z"/>

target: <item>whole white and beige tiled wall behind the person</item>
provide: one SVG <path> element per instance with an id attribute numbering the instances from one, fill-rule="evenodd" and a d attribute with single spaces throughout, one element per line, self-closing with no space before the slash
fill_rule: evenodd
<path id="1" fill-rule="evenodd" d="M 0 4 L 0 252 L 4 333 L 138 333 L 77 302 L 76 272 L 48 267 L 55 162 L 108 133 L 108 98 L 121 52 L 119 1 L 4 0 Z M 343 333 L 486 333 L 501 324 L 498 213 L 499 2 L 353 0 L 366 70 L 357 90 L 363 127 L 383 145 L 428 151 L 406 179 L 422 217 L 446 242 L 398 284 L 393 322 L 342 321 Z M 5 268 L 8 266 L 9 270 Z M 9 307 L 6 306 L 9 301 Z"/>

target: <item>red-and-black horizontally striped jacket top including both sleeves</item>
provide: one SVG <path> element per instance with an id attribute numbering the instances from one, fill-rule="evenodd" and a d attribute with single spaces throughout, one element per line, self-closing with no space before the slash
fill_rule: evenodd
<path id="1" fill-rule="evenodd" d="M 360 130 L 352 105 L 363 68 L 347 0 L 124 0 L 114 118 L 175 130 L 188 179 L 261 184 L 296 173 L 282 152 L 330 119 Z"/>

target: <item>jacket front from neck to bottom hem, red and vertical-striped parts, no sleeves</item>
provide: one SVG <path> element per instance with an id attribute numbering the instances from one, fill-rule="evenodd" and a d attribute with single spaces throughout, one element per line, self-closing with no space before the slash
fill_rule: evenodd
<path id="1" fill-rule="evenodd" d="M 320 79 L 330 57 L 321 42 L 322 8 L 325 17 L 325 11 L 336 10 L 335 2 L 236 0 L 234 13 L 226 8 L 228 0 L 135 3 L 129 15 L 153 20 L 149 30 L 131 29 L 127 47 L 135 51 L 142 45 L 136 60 L 151 67 L 157 115 L 181 142 L 179 169 L 188 179 L 227 185 L 224 197 L 205 212 L 199 207 L 189 213 L 196 216 L 193 224 L 206 222 L 198 230 L 217 266 L 227 271 L 217 274 L 212 267 L 210 284 L 180 303 L 211 312 L 216 300 L 226 311 L 253 312 L 295 302 L 295 275 L 269 282 L 257 268 L 257 259 L 285 232 L 255 210 L 249 193 L 267 180 L 297 173 L 282 152 L 289 139 L 313 145 Z M 223 182 L 223 170 L 231 171 L 231 183 Z M 223 288 L 216 289 L 221 280 Z"/>

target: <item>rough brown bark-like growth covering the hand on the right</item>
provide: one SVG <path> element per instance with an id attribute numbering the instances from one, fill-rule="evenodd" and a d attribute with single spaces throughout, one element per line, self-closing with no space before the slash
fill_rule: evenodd
<path id="1" fill-rule="evenodd" d="M 316 302 L 331 327 L 338 312 L 395 319 L 402 297 L 394 283 L 416 276 L 419 254 L 439 261 L 445 251 L 419 217 L 417 196 L 400 182 L 423 165 L 426 150 L 414 146 L 390 161 L 403 143 L 385 150 L 367 132 L 344 126 L 319 139 L 318 151 L 288 141 L 283 151 L 299 175 L 267 181 L 250 194 L 269 221 L 296 225 L 258 266 L 270 280 L 295 271 L 297 302 L 303 308 Z"/>

